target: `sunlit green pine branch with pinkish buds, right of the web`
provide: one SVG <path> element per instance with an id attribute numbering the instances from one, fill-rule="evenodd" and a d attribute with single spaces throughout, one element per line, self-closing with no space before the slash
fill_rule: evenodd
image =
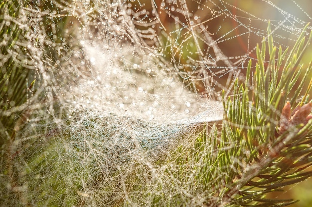
<path id="1" fill-rule="evenodd" d="M 222 134 L 223 141 L 230 139 L 234 143 L 240 143 L 227 152 L 229 153 L 227 161 L 231 164 L 234 158 L 240 156 L 243 167 L 234 168 L 230 179 L 225 181 L 228 182 L 226 184 L 228 190 L 221 195 L 220 203 L 215 203 L 214 206 L 289 205 L 293 201 L 269 200 L 267 202 L 262 197 L 272 190 L 281 190 L 284 186 L 301 182 L 312 176 L 311 171 L 302 172 L 311 165 L 308 160 L 312 150 L 312 103 L 302 100 L 291 116 L 291 103 L 293 103 L 292 108 L 295 108 L 295 99 L 299 96 L 298 89 L 295 96 L 290 97 L 295 83 L 299 82 L 301 89 L 312 71 L 311 65 L 307 69 L 303 66 L 299 67 L 300 59 L 311 41 L 312 33 L 309 39 L 305 40 L 306 29 L 307 27 L 284 64 L 280 81 L 277 80 L 280 63 L 283 62 L 282 52 L 279 51 L 276 61 L 276 47 L 273 46 L 273 38 L 269 36 L 268 66 L 264 66 L 263 51 L 266 47 L 263 43 L 261 50 L 257 48 L 258 63 L 254 82 L 250 84 L 248 81 L 251 79 L 250 62 L 245 83 L 239 85 L 240 80 L 237 80 L 234 100 L 229 98 L 224 103 L 227 116 L 222 128 L 225 132 Z M 268 34 L 270 33 L 269 25 Z M 299 78 L 302 74 L 304 74 L 303 80 Z M 309 90 L 310 88 L 304 98 L 308 97 Z M 250 96 L 251 101 L 249 101 Z M 251 191 L 251 189 L 258 190 Z"/>

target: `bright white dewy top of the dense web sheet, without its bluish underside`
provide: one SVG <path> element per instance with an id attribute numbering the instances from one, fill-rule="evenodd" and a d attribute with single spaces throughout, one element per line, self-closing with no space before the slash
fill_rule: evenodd
<path id="1" fill-rule="evenodd" d="M 160 123 L 189 121 L 192 116 L 207 110 L 214 110 L 211 117 L 193 121 L 204 123 L 222 118 L 221 103 L 201 98 L 185 89 L 178 79 L 165 71 L 166 66 L 151 65 L 152 57 L 141 60 L 140 64 L 122 58 L 125 54 L 132 55 L 129 52 L 134 50 L 132 46 L 118 52 L 108 46 L 88 45 L 90 43 L 86 43 L 86 57 L 92 61 L 92 76 L 80 80 L 79 86 L 72 88 L 74 93 L 71 91 L 70 94 L 80 97 L 76 108 L 91 107 L 102 115 L 124 114 Z M 126 63 L 125 68 L 120 67 L 120 62 Z"/>

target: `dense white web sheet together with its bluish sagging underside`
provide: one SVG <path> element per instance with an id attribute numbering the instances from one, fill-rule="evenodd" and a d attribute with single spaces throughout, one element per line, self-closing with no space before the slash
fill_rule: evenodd
<path id="1" fill-rule="evenodd" d="M 123 56 L 133 51 L 133 46 L 116 50 L 103 42 L 101 47 L 84 44 L 92 74 L 79 80 L 65 96 L 73 101 L 70 105 L 75 104 L 74 108 L 68 106 L 69 113 L 78 114 L 72 117 L 78 123 L 72 125 L 79 127 L 93 117 L 96 125 L 107 132 L 104 140 L 114 143 L 104 145 L 116 145 L 118 151 L 127 148 L 131 154 L 141 148 L 154 154 L 167 153 L 170 146 L 182 144 L 183 139 L 187 141 L 206 123 L 222 120 L 221 102 L 185 89 L 164 71 L 162 64 L 151 65 L 152 57 L 142 60 L 140 65 L 130 62 L 122 68 L 120 62 L 129 61 Z M 110 133 L 111 129 L 115 132 Z"/>

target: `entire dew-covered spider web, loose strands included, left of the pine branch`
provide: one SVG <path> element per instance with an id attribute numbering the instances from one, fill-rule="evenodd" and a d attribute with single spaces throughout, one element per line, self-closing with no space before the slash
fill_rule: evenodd
<path id="1" fill-rule="evenodd" d="M 0 28 L 12 30 L 1 33 L 0 46 L 20 30 L 0 66 L 14 59 L 28 69 L 20 86 L 26 103 L 5 97 L 10 110 L 1 111 L 22 111 L 11 126 L 16 138 L 1 149 L 10 156 L 1 158 L 9 176 L 1 174 L 0 204 L 11 206 L 217 204 L 213 192 L 222 184 L 194 184 L 192 167 L 205 158 L 194 164 L 185 157 L 198 134 L 208 139 L 222 121 L 221 89 L 228 98 L 233 78 L 255 63 L 269 20 L 285 49 L 312 9 L 309 0 L 15 4 L 18 15 L 9 6 L 0 14 Z"/>

